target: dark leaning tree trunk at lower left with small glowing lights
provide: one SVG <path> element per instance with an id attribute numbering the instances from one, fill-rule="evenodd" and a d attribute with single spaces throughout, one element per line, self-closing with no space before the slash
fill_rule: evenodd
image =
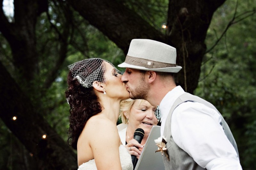
<path id="1" fill-rule="evenodd" d="M 5 125 L 38 161 L 39 169 L 77 169 L 77 158 L 71 147 L 38 113 L 0 63 L 0 117 Z M 4 96 L 4 97 L 3 97 Z M 13 117 L 16 116 L 16 120 Z M 43 135 L 46 138 L 42 138 Z"/>

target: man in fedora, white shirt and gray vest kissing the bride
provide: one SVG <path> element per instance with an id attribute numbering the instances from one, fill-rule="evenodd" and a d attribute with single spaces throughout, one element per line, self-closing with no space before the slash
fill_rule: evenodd
<path id="1" fill-rule="evenodd" d="M 159 106 L 161 135 L 170 160 L 165 169 L 242 169 L 235 139 L 218 110 L 176 86 L 176 49 L 162 42 L 133 39 L 121 80 L 132 99 Z M 158 112 L 158 113 L 159 113 Z M 158 115 L 156 115 L 158 117 Z"/>

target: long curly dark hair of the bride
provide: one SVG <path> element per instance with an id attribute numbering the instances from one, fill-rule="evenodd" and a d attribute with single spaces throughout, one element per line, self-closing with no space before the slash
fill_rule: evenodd
<path id="1" fill-rule="evenodd" d="M 95 59 L 94 62 L 100 65 L 103 60 Z M 93 63 L 92 63 L 93 65 Z M 81 66 L 80 66 L 81 67 Z M 80 68 L 77 67 L 77 70 Z M 92 67 L 84 68 L 86 71 L 84 76 L 88 76 Z M 98 69 L 98 68 L 96 68 Z M 105 72 L 104 70 L 101 70 Z M 86 75 L 87 74 L 87 75 Z M 94 81 L 102 80 L 99 74 Z M 86 88 L 82 86 L 76 78 L 72 77 L 72 72 L 69 71 L 67 78 L 68 88 L 65 92 L 66 98 L 70 105 L 69 115 L 69 129 L 68 129 L 68 144 L 77 150 L 78 137 L 84 129 L 85 123 L 93 116 L 102 111 L 102 106 L 98 101 L 98 97 L 93 91 L 93 87 Z M 92 82 L 91 82 L 92 83 Z"/>

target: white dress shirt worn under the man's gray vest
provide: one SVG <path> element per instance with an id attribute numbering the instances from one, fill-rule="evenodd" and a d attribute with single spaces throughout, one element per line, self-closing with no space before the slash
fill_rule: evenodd
<path id="1" fill-rule="evenodd" d="M 161 135 L 174 101 L 185 93 L 177 86 L 168 92 L 159 105 Z M 221 116 L 214 109 L 198 102 L 181 103 L 172 113 L 171 131 L 174 142 L 203 168 L 240 170 L 239 158 L 220 125 Z"/>

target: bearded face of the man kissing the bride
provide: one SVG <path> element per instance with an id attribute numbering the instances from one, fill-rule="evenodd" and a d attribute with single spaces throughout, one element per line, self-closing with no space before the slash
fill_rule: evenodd
<path id="1" fill-rule="evenodd" d="M 145 74 L 143 72 L 126 68 L 121 80 L 125 83 L 131 99 L 147 100 L 149 85 L 145 82 Z"/>

